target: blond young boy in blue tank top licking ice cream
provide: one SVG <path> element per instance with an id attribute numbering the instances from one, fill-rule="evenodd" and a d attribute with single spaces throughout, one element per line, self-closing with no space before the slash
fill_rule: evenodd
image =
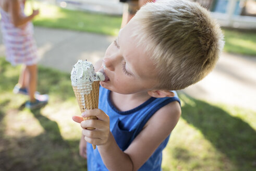
<path id="1" fill-rule="evenodd" d="M 82 113 L 99 119 L 73 117 L 83 128 L 80 154 L 87 155 L 88 170 L 161 170 L 162 151 L 181 114 L 169 90 L 208 75 L 223 45 L 220 28 L 196 3 L 143 6 L 106 50 L 100 109 Z M 96 150 L 87 145 L 85 151 L 86 141 Z"/>

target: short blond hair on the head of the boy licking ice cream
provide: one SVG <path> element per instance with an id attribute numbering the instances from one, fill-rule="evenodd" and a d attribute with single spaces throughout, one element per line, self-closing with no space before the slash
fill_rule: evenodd
<path id="1" fill-rule="evenodd" d="M 155 62 L 157 89 L 180 90 L 214 68 L 223 34 L 209 11 L 184 0 L 160 0 L 141 7 L 133 36 Z M 147 44 L 145 44 L 147 43 Z"/>

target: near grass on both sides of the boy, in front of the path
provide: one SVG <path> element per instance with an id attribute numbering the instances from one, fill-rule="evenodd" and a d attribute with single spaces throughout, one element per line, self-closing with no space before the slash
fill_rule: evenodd
<path id="1" fill-rule="evenodd" d="M 70 75 L 39 67 L 38 90 L 50 102 L 29 111 L 27 97 L 12 93 L 19 70 L 0 57 L 0 170 L 84 170 Z M 182 116 L 163 152 L 164 171 L 255 170 L 255 111 L 179 95 Z"/>

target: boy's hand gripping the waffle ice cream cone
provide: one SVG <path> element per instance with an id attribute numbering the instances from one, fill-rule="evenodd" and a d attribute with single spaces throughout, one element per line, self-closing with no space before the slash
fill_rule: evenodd
<path id="1" fill-rule="evenodd" d="M 98 119 L 83 120 L 82 117 L 96 116 Z M 91 144 L 103 145 L 109 137 L 109 117 L 101 109 L 90 109 L 82 113 L 82 117 L 73 116 L 72 119 L 80 123 L 83 128 L 84 140 Z M 87 128 L 95 128 L 88 130 Z"/>

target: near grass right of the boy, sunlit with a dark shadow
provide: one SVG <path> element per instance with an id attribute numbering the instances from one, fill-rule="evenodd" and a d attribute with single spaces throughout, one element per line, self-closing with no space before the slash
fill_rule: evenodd
<path id="1" fill-rule="evenodd" d="M 179 96 L 182 116 L 163 170 L 255 170 L 255 111 Z"/>

